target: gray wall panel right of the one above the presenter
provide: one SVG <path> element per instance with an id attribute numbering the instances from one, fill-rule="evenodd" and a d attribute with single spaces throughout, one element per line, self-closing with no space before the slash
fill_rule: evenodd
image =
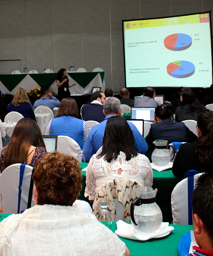
<path id="1" fill-rule="evenodd" d="M 83 67 L 105 71 L 106 88 L 111 87 L 111 48 L 109 0 L 82 0 Z"/>

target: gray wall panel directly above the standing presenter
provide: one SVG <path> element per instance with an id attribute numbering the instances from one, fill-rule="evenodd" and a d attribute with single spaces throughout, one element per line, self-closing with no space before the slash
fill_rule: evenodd
<path id="1" fill-rule="evenodd" d="M 53 1 L 54 70 L 79 67 L 81 52 L 81 1 Z"/>

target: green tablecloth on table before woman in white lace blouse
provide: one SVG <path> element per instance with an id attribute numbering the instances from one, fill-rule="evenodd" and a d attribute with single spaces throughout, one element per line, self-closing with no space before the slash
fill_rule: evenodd
<path id="1" fill-rule="evenodd" d="M 84 169 L 88 163 L 80 163 L 82 169 Z M 80 198 L 85 200 L 84 191 L 86 187 L 86 171 L 82 171 L 82 190 Z M 181 179 L 176 178 L 171 170 L 157 172 L 153 170 L 153 189 L 157 188 L 156 203 L 161 208 L 163 214 L 163 221 L 172 221 L 171 212 L 171 193 L 176 184 Z"/>

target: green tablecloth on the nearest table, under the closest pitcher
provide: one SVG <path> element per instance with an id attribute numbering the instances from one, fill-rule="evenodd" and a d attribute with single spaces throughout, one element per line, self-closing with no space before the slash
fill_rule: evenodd
<path id="1" fill-rule="evenodd" d="M 0 221 L 9 216 L 9 214 L 1 214 Z M 171 225 L 175 227 L 168 236 L 150 239 L 148 241 L 135 241 L 120 237 L 130 250 L 131 256 L 178 256 L 178 242 L 181 236 L 193 230 L 192 225 Z M 116 230 L 116 223 L 112 223 L 112 231 Z"/>

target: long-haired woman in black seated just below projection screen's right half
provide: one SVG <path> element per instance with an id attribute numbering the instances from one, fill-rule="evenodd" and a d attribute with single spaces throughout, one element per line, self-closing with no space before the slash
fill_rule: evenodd
<path id="1" fill-rule="evenodd" d="M 206 108 L 198 101 L 192 89 L 184 88 L 181 90 L 180 95 L 181 106 L 176 108 L 176 122 L 182 122 L 188 119 L 197 121 L 198 113 L 204 111 Z"/>

